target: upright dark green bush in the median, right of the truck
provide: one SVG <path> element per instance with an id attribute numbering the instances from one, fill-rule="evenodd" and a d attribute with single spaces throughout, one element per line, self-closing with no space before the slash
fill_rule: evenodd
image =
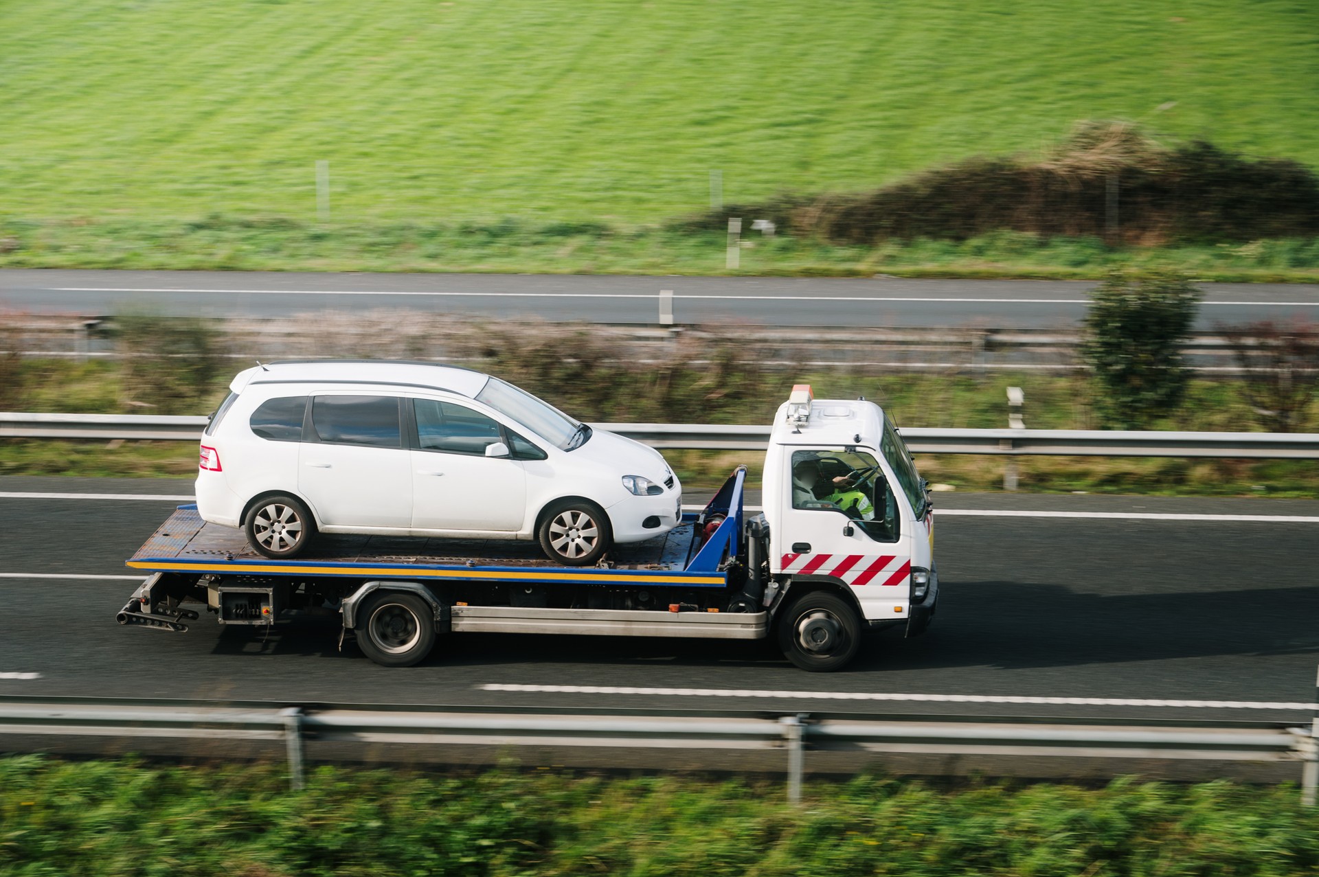
<path id="1" fill-rule="evenodd" d="M 1082 355 L 1103 388 L 1099 414 L 1119 429 L 1149 426 L 1186 393 L 1181 346 L 1200 291 L 1171 272 L 1113 272 L 1092 298 Z"/>

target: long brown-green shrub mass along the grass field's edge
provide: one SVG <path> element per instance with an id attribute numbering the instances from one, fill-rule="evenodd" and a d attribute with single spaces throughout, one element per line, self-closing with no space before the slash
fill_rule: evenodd
<path id="1" fill-rule="evenodd" d="M 860 245 L 996 229 L 1109 244 L 1310 237 L 1319 233 L 1319 177 L 1295 161 L 1207 141 L 1166 146 L 1125 123 L 1082 123 L 1038 160 L 979 156 L 871 193 L 781 195 L 682 227 L 721 229 L 728 216 Z"/>

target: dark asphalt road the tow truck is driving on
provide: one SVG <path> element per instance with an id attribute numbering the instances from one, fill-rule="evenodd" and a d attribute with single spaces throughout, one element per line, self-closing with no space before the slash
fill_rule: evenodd
<path id="1" fill-rule="evenodd" d="M 0 479 L 0 492 L 190 493 L 187 481 Z M 696 497 L 692 497 L 694 500 Z M 1319 522 L 969 517 L 952 509 L 1319 516 L 1319 501 L 939 495 L 939 617 L 877 637 L 853 669 L 806 674 L 760 642 L 454 636 L 426 663 L 336 650 L 331 622 L 269 638 L 208 616 L 185 634 L 120 628 L 123 559 L 168 500 L 0 497 L 0 695 L 844 710 L 1308 720 L 1304 711 L 873 703 L 791 692 L 1312 702 Z M 26 678 L 26 674 L 40 674 Z M 485 684 L 757 690 L 764 695 L 491 691 Z M 772 694 L 770 694 L 772 692 Z"/>

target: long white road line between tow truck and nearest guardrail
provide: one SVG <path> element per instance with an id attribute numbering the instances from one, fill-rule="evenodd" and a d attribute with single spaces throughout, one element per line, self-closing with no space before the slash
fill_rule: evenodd
<path id="1" fill-rule="evenodd" d="M 481 684 L 481 691 L 525 694 L 634 694 L 661 698 L 777 698 L 781 700 L 896 700 L 911 703 L 1017 703 L 1067 707 L 1192 707 L 1199 710 L 1319 710 L 1319 703 L 1256 700 L 1144 700 L 1129 698 L 1013 698 L 981 694 L 881 694 L 869 691 L 762 691 L 756 688 L 632 688 L 624 686 Z"/>

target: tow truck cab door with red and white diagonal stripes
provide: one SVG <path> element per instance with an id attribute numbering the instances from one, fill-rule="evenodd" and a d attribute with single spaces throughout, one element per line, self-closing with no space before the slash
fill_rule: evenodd
<path id="1" fill-rule="evenodd" d="M 776 572 L 847 584 L 868 619 L 902 617 L 910 593 L 910 534 L 882 464 L 867 451 L 794 450 L 782 491 Z M 894 607 L 902 607 L 896 613 Z"/>

